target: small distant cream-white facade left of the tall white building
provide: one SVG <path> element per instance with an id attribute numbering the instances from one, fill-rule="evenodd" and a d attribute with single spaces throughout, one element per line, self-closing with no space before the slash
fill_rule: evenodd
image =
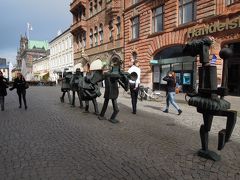
<path id="1" fill-rule="evenodd" d="M 33 75 L 35 81 L 49 80 L 49 56 L 33 61 Z"/>

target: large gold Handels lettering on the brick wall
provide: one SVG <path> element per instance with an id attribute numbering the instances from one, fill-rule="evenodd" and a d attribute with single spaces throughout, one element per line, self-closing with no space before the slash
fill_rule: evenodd
<path id="1" fill-rule="evenodd" d="M 207 24 L 204 27 L 196 28 L 193 27 L 188 30 L 187 37 L 193 38 L 203 35 L 208 35 L 216 32 L 221 32 L 225 30 L 232 30 L 240 27 L 240 16 L 233 19 L 225 19 L 224 22 L 216 21 L 211 24 Z"/>

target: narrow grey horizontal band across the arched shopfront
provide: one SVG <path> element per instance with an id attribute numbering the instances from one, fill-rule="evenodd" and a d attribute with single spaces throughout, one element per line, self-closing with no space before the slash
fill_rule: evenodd
<path id="1" fill-rule="evenodd" d="M 174 63 L 182 63 L 182 62 L 193 62 L 195 61 L 195 57 L 192 56 L 182 56 L 176 58 L 167 58 L 167 59 L 152 59 L 150 60 L 150 64 L 157 65 L 157 64 L 174 64 Z"/>

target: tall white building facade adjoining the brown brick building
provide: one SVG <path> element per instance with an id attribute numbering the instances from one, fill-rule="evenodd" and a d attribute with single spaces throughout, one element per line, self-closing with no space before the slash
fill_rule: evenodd
<path id="1" fill-rule="evenodd" d="M 49 47 L 49 80 L 57 82 L 64 69 L 73 71 L 73 36 L 70 28 L 50 41 Z"/>

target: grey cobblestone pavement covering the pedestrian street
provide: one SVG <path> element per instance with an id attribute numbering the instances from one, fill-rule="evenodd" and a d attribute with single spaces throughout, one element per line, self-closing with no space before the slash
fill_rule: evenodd
<path id="1" fill-rule="evenodd" d="M 187 104 L 179 104 L 178 116 L 173 108 L 163 113 L 164 102 L 142 101 L 133 115 L 130 99 L 122 96 L 120 123 L 112 124 L 60 103 L 60 95 L 59 87 L 30 87 L 26 111 L 9 92 L 0 111 L 1 180 L 240 180 L 239 118 L 231 141 L 218 152 L 221 161 L 213 162 L 197 156 L 202 117 Z M 98 101 L 101 109 L 103 99 Z M 111 113 L 110 106 L 106 116 Z M 214 118 L 211 150 L 217 151 L 225 123 Z"/>

